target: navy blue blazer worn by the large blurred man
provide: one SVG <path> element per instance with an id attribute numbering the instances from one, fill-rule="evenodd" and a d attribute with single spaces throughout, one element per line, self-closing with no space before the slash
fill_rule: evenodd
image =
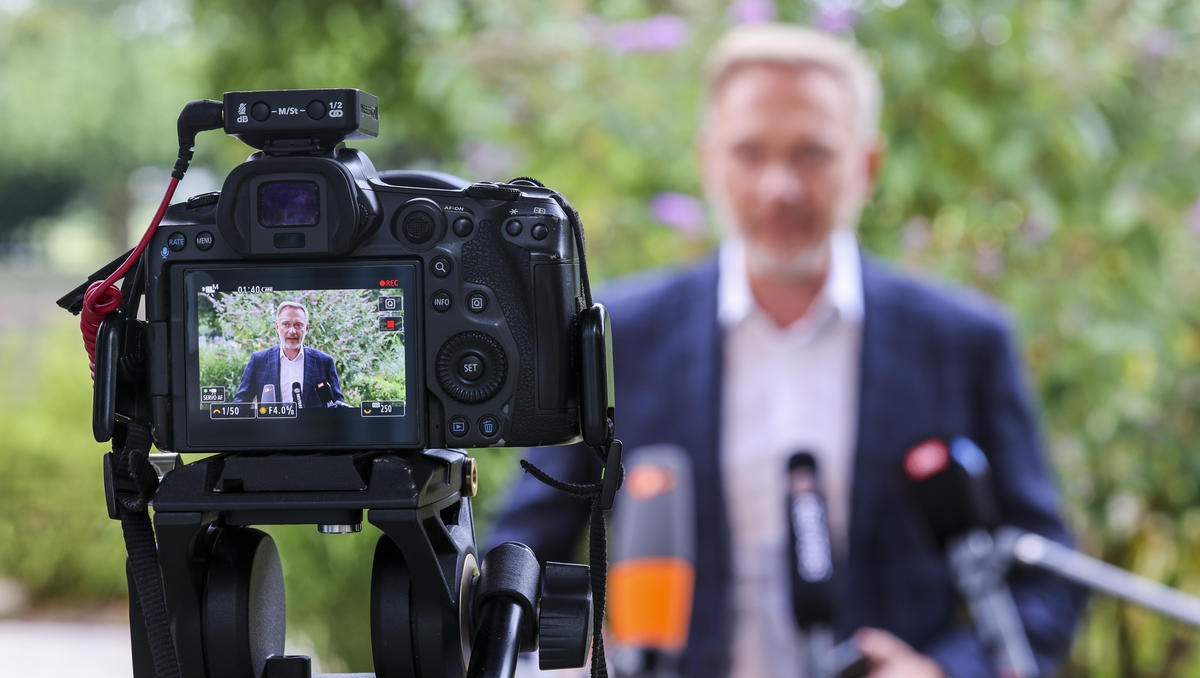
<path id="1" fill-rule="evenodd" d="M 668 443 L 692 457 L 696 593 L 684 673 L 696 678 L 722 676 L 730 666 L 716 271 L 710 258 L 604 295 L 613 322 L 617 437 L 625 450 Z M 968 436 L 991 462 L 1003 521 L 1068 541 L 1008 323 L 979 294 L 934 288 L 866 257 L 863 294 L 850 548 L 834 584 L 838 635 L 887 629 L 953 678 L 995 676 L 978 637 L 956 620 L 946 558 L 907 503 L 901 457 L 931 436 Z M 559 478 L 598 475 L 594 455 L 580 448 L 535 449 L 529 458 Z M 616 510 L 619 503 L 618 494 Z M 570 560 L 588 508 L 523 475 L 490 541 L 521 541 L 541 559 Z M 1050 671 L 1069 648 L 1082 594 L 1048 575 L 1016 572 L 1009 581 L 1038 662 Z"/>

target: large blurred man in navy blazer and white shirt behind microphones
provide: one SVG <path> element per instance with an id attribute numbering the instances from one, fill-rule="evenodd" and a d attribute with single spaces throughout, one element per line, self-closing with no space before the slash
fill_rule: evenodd
<path id="1" fill-rule="evenodd" d="M 854 228 L 883 150 L 881 88 L 862 53 L 797 26 L 742 26 L 712 50 L 707 84 L 697 145 L 720 251 L 601 299 L 626 452 L 679 445 L 695 469 L 684 673 L 798 674 L 782 506 L 788 456 L 803 449 L 828 502 L 836 632 L 854 637 L 871 676 L 991 676 L 954 618 L 946 558 L 905 500 L 900 468 L 916 442 L 968 436 L 989 456 L 1002 520 L 1067 539 L 1007 322 L 980 295 L 859 252 Z M 559 476 L 598 470 L 577 450 L 530 456 Z M 571 559 L 586 512 L 523 476 L 493 542 Z M 1010 581 L 1048 671 L 1069 646 L 1079 598 L 1049 577 Z"/>

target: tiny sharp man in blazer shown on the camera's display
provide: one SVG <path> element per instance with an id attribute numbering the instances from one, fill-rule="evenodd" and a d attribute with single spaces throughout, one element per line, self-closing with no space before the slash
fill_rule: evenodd
<path id="1" fill-rule="evenodd" d="M 250 356 L 234 402 L 299 401 L 300 407 L 336 407 L 342 402 L 334 359 L 304 346 L 308 310 L 298 301 L 280 304 L 275 331 L 280 335 L 280 346 L 256 350 Z M 328 384 L 329 390 L 318 391 L 320 384 Z"/>

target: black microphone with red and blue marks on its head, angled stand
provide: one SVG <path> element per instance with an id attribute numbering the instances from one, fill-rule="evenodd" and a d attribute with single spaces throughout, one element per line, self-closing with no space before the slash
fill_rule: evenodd
<path id="1" fill-rule="evenodd" d="M 988 457 L 967 438 L 926 440 L 905 455 L 904 470 L 917 509 L 949 556 L 992 666 L 1001 678 L 1037 676 L 1038 665 L 1004 582 L 1008 563 L 992 541 L 996 504 Z"/>

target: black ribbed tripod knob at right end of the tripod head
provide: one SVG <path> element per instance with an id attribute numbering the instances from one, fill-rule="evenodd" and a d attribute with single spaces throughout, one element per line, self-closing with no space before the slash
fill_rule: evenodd
<path id="1" fill-rule="evenodd" d="M 592 584 L 587 565 L 546 563 L 538 614 L 542 671 L 576 668 L 592 648 Z"/>

